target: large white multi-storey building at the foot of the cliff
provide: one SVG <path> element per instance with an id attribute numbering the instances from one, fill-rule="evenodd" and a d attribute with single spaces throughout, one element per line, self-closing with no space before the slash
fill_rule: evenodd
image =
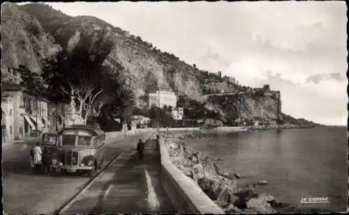
<path id="1" fill-rule="evenodd" d="M 163 106 L 172 106 L 172 108 L 177 106 L 177 96 L 168 91 L 156 91 L 156 93 L 148 94 L 148 106 L 157 106 L 158 108 L 163 108 Z"/>

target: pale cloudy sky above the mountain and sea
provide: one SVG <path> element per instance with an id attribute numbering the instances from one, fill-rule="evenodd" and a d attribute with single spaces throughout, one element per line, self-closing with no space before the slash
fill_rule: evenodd
<path id="1" fill-rule="evenodd" d="M 48 3 L 140 35 L 246 86 L 281 91 L 283 113 L 347 125 L 345 1 Z"/>

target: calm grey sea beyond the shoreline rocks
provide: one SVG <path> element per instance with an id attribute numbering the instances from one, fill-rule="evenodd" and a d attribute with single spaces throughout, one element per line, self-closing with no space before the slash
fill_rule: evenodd
<path id="1" fill-rule="evenodd" d="M 346 211 L 348 207 L 346 127 L 284 129 L 221 134 L 185 140 L 244 182 L 267 180 L 259 193 L 301 209 Z M 301 203 L 304 197 L 329 197 L 329 203 Z"/>

